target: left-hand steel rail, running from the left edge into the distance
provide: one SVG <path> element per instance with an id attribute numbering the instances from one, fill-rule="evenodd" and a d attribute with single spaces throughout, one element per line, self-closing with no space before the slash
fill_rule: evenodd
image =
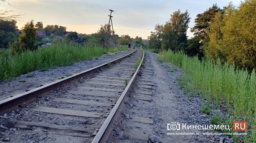
<path id="1" fill-rule="evenodd" d="M 133 51 L 133 52 L 135 52 L 135 51 Z M 130 54 L 132 54 L 133 52 L 131 52 Z M 26 103 L 26 104 L 31 103 L 31 102 L 33 102 L 37 99 L 36 97 L 38 95 L 45 94 L 45 93 L 49 92 L 52 89 L 55 89 L 55 88 L 65 84 L 65 83 L 68 83 L 71 80 L 82 77 L 86 74 L 90 74 L 91 72 L 101 70 L 101 68 L 106 67 L 109 63 L 114 63 L 117 60 L 122 60 L 122 59 L 126 58 L 127 56 L 129 56 L 130 54 L 127 54 L 123 57 L 112 60 L 110 62 L 104 63 L 102 65 L 96 66 L 94 68 L 88 69 L 86 71 L 82 71 L 82 72 L 79 72 L 77 74 L 71 75 L 69 77 L 63 78 L 61 80 L 54 81 L 54 82 L 49 83 L 47 85 L 41 86 L 39 88 L 32 89 L 30 91 L 27 91 L 27 92 L 24 92 L 22 94 L 16 95 L 14 97 L 2 100 L 2 101 L 0 101 L 0 115 L 11 112 L 14 109 L 17 109 L 19 105 L 22 105 L 24 103 Z"/>

